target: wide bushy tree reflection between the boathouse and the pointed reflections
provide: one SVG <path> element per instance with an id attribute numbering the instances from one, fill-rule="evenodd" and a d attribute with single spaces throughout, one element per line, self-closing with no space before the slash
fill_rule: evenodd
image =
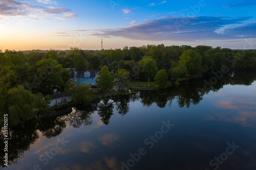
<path id="1" fill-rule="evenodd" d="M 82 109 L 82 110 L 78 110 Z M 70 114 L 63 116 L 62 118 L 74 128 L 80 128 L 81 125 L 88 126 L 92 125 L 92 114 L 93 110 L 88 108 L 75 108 Z"/>

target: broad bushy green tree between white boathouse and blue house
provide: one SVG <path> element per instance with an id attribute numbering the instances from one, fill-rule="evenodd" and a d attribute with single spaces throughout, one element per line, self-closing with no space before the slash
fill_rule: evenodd
<path id="1" fill-rule="evenodd" d="M 81 83 L 79 85 L 77 81 L 71 81 L 65 87 L 65 91 L 71 94 L 73 102 L 76 104 L 84 104 L 92 101 L 90 87 L 90 84 Z"/>

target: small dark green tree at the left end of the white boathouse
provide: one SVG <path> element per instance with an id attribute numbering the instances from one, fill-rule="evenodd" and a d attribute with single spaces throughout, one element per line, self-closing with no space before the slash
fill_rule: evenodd
<path id="1" fill-rule="evenodd" d="M 42 93 L 37 93 L 35 96 L 35 108 L 39 110 L 47 109 L 51 104 L 50 95 L 42 95 Z"/>

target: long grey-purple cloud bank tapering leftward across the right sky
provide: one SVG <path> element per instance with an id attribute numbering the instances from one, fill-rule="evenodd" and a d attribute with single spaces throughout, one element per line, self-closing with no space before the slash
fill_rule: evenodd
<path id="1" fill-rule="evenodd" d="M 126 28 L 105 29 L 93 36 L 152 41 L 198 41 L 256 38 L 256 23 L 242 24 L 251 17 L 174 17 L 150 20 Z M 229 25 L 236 25 L 226 28 Z M 239 26 L 240 25 L 240 26 Z M 225 29 L 223 29 L 225 28 Z M 218 33 L 218 30 L 222 29 Z"/>

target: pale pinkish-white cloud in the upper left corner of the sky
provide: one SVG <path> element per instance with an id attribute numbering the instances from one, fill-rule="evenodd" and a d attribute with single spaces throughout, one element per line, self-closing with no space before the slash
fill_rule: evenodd
<path id="1" fill-rule="evenodd" d="M 57 19 L 76 18 L 67 8 L 41 7 L 13 0 L 0 2 L 0 17 L 53 17 Z"/>

